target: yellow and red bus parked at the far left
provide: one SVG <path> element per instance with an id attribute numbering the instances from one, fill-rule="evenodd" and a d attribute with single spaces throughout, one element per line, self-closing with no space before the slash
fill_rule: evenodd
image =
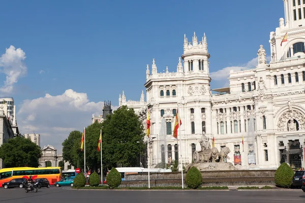
<path id="1" fill-rule="evenodd" d="M 15 178 L 26 178 L 33 176 L 33 180 L 38 178 L 46 178 L 50 182 L 50 185 L 54 185 L 55 182 L 62 180 L 62 169 L 60 167 L 14 167 L 3 168 L 0 170 L 0 187 L 5 182 L 9 182 Z"/>

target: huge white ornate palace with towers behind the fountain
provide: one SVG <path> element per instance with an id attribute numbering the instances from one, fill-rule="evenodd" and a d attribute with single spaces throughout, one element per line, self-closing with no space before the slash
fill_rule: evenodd
<path id="1" fill-rule="evenodd" d="M 205 131 L 215 147 L 230 148 L 230 159 L 237 168 L 276 168 L 286 161 L 291 167 L 305 166 L 305 2 L 284 0 L 285 20 L 270 32 L 271 61 L 261 45 L 258 65 L 254 69 L 230 72 L 230 86 L 214 89 L 209 77 L 210 54 L 204 35 L 198 42 L 185 36 L 184 53 L 177 71 L 157 72 L 155 59 L 146 68 L 146 104 L 151 138 L 150 166 L 169 159 L 192 162 L 198 140 Z M 282 39 L 288 33 L 288 41 Z M 182 59 L 182 60 L 181 60 Z M 141 97 L 142 98 L 142 97 Z M 133 108 L 132 103 L 120 105 Z M 175 115 L 179 108 L 181 146 L 172 137 Z M 141 119 L 145 120 L 145 114 Z M 160 147 L 161 120 L 167 126 L 167 146 Z M 243 141 L 243 144 L 242 144 Z M 180 149 L 179 149 L 180 148 Z"/>

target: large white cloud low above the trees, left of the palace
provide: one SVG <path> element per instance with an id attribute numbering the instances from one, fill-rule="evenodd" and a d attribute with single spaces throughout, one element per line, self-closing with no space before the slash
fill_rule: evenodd
<path id="1" fill-rule="evenodd" d="M 104 103 L 89 102 L 86 93 L 66 90 L 63 94 L 24 100 L 17 113 L 22 134 L 41 134 L 41 147 L 53 145 L 58 153 L 62 143 L 73 130 L 81 130 L 92 122 L 92 114 L 101 115 Z M 117 107 L 112 107 L 113 110 Z"/>

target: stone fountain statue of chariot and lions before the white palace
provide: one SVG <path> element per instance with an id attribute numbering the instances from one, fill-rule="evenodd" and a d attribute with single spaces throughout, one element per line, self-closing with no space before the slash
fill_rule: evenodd
<path id="1" fill-rule="evenodd" d="M 216 147 L 210 146 L 209 139 L 202 132 L 199 140 L 201 150 L 195 151 L 193 154 L 193 163 L 189 164 L 187 171 L 192 166 L 198 168 L 199 171 L 226 171 L 236 170 L 232 163 L 225 162 L 225 159 L 230 159 L 228 154 L 231 152 L 228 147 L 224 147 L 220 152 Z"/>

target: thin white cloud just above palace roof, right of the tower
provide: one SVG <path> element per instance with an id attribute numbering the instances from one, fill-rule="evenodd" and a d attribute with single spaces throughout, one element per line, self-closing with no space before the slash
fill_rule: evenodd
<path id="1" fill-rule="evenodd" d="M 267 56 L 266 59 L 267 59 L 267 61 L 270 61 L 271 57 Z M 228 66 L 228 67 L 224 67 L 223 69 L 218 70 L 216 72 L 212 72 L 212 73 L 210 73 L 210 77 L 212 80 L 223 81 L 223 82 L 225 82 L 224 86 L 228 86 L 229 85 L 228 77 L 230 76 L 231 70 L 233 70 L 234 72 L 238 72 L 238 71 L 241 71 L 242 69 L 256 67 L 257 65 L 258 65 L 258 56 L 240 66 Z"/>

